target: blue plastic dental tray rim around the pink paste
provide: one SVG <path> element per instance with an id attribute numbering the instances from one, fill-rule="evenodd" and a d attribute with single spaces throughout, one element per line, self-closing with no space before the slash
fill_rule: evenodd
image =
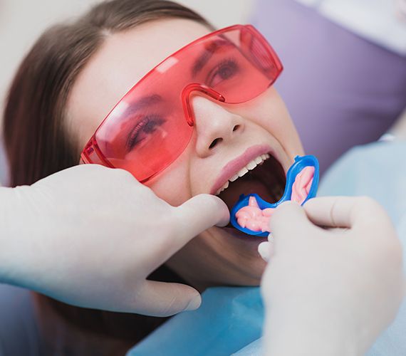
<path id="1" fill-rule="evenodd" d="M 291 165 L 291 167 L 288 170 L 288 173 L 286 174 L 286 186 L 285 190 L 283 192 L 283 195 L 279 201 L 276 201 L 276 203 L 269 203 L 268 201 L 265 201 L 261 197 L 259 197 L 258 194 L 241 194 L 239 197 L 239 200 L 234 204 L 233 208 L 231 209 L 231 218 L 230 222 L 232 226 L 234 226 L 236 229 L 239 229 L 239 231 L 244 232 L 245 234 L 252 235 L 252 236 L 258 236 L 258 237 L 266 237 L 269 235 L 268 231 L 252 231 L 250 229 L 247 229 L 245 227 L 242 227 L 239 225 L 239 223 L 236 220 L 236 212 L 239 211 L 244 206 L 247 206 L 249 203 L 249 197 L 255 197 L 256 201 L 258 202 L 258 206 L 264 210 L 266 208 L 276 208 L 276 206 L 279 206 L 280 204 L 283 203 L 283 201 L 288 201 L 291 200 L 292 196 L 292 186 L 293 183 L 295 182 L 296 176 L 305 168 L 305 167 L 314 167 L 314 177 L 313 177 L 313 182 L 311 184 L 311 189 L 308 192 L 308 196 L 306 197 L 305 201 L 303 201 L 302 205 L 308 201 L 308 199 L 316 197 L 317 189 L 318 189 L 318 179 L 319 179 L 319 168 L 318 168 L 318 160 L 315 156 L 313 155 L 308 155 L 308 156 L 296 156 L 295 157 L 295 162 Z"/>

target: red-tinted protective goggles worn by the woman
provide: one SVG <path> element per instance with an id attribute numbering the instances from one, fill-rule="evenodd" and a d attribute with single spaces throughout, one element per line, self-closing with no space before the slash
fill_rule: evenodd
<path id="1" fill-rule="evenodd" d="M 253 26 L 224 28 L 180 49 L 120 100 L 80 156 L 85 163 L 123 168 L 140 182 L 182 154 L 193 132 L 194 91 L 237 104 L 269 88 L 282 65 Z"/>

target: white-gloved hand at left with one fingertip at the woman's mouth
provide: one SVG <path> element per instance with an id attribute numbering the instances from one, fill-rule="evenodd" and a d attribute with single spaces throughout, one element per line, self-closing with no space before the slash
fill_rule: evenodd
<path id="1" fill-rule="evenodd" d="M 0 281 L 88 308 L 172 315 L 197 290 L 145 278 L 201 231 L 227 224 L 202 194 L 174 207 L 121 169 L 85 164 L 0 188 Z"/>

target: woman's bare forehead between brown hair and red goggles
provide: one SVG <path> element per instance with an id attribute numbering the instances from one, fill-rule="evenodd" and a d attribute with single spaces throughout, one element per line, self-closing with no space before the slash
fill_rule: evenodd
<path id="1" fill-rule="evenodd" d="M 195 21 L 162 19 L 108 35 L 78 76 L 68 100 L 68 126 L 78 135 L 79 145 L 85 145 L 132 85 L 167 56 L 209 32 Z"/>

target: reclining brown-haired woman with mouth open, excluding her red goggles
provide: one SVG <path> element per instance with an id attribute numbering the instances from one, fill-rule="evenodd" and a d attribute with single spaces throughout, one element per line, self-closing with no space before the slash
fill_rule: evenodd
<path id="1" fill-rule="evenodd" d="M 95 6 L 75 23 L 44 33 L 21 64 L 6 105 L 11 184 L 31 184 L 78 164 L 80 151 L 127 90 L 165 57 L 212 30 L 183 6 L 124 0 Z M 226 64 L 222 75 L 227 76 L 234 67 Z M 252 156 L 274 172 L 268 182 L 236 179 L 222 199 L 233 204 L 249 189 L 278 199 L 284 172 L 303 150 L 274 88 L 238 105 L 194 95 L 191 106 L 194 134 L 182 155 L 147 182 L 155 194 L 179 205 L 196 194 L 216 192 Z M 223 169 L 230 164 L 225 177 Z M 204 231 L 151 278 L 186 281 L 199 290 L 258 286 L 265 266 L 256 251 L 260 241 L 231 234 Z M 164 321 L 75 308 L 39 295 L 36 300 L 50 353 L 117 355 Z"/>

